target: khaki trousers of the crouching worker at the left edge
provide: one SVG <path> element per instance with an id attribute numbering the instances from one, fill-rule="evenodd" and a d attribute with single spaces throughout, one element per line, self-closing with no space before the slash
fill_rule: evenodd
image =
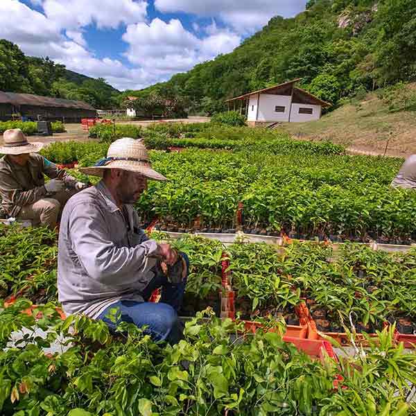
<path id="1" fill-rule="evenodd" d="M 46 225 L 55 228 L 67 200 L 76 192 L 75 189 L 64 190 L 26 205 L 21 209 L 17 220 L 32 220 L 33 226 Z"/>

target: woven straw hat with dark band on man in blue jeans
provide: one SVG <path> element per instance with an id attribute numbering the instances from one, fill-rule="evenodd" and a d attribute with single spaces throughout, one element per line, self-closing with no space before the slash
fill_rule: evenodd
<path id="1" fill-rule="evenodd" d="M 166 180 L 164 175 L 153 170 L 143 141 L 131 137 L 123 137 L 113 141 L 108 148 L 107 157 L 98 161 L 95 166 L 79 170 L 86 175 L 103 177 L 105 169 L 115 168 L 141 173 L 141 175 L 153 180 Z"/>

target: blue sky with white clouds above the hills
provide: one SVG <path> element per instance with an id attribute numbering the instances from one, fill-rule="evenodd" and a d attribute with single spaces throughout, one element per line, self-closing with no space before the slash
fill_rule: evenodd
<path id="1" fill-rule="evenodd" d="M 140 89 L 227 53 L 306 0 L 0 0 L 0 38 L 24 53 Z"/>

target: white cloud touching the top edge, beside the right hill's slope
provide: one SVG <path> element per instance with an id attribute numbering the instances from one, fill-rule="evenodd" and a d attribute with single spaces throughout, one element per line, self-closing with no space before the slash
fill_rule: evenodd
<path id="1" fill-rule="evenodd" d="M 305 0 L 155 0 L 161 12 L 185 12 L 204 17 L 219 16 L 239 33 L 250 33 L 281 15 L 290 17 L 304 10 Z"/>

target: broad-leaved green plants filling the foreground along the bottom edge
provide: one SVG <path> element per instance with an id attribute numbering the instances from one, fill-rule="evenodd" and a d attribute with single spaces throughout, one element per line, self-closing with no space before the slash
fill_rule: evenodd
<path id="1" fill-rule="evenodd" d="M 29 304 L 0 312 L 5 416 L 409 414 L 404 400 L 416 356 L 394 347 L 387 331 L 380 347 L 339 369 L 329 358 L 313 361 L 278 333 L 243 336 L 241 326 L 209 311 L 187 322 L 184 339 L 172 347 L 153 343 L 131 324 L 112 336 L 103 322 L 86 317 L 58 322 L 49 304 L 35 311 L 43 313 L 37 326 L 49 331 L 42 340 L 33 332 L 35 319 L 19 313 Z M 27 335 L 6 349 L 22 327 Z M 45 355 L 42 347 L 59 336 L 67 350 Z M 347 389 L 333 388 L 339 372 Z"/>

